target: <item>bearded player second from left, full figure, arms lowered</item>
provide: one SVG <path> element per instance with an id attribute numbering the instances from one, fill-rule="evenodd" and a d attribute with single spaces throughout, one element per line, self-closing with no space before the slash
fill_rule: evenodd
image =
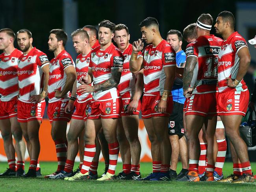
<path id="1" fill-rule="evenodd" d="M 18 121 L 27 142 L 30 167 L 25 177 L 35 177 L 40 152 L 39 127 L 45 111 L 49 61 L 45 53 L 32 46 L 29 30 L 17 32 L 17 42 L 23 54 L 18 61 L 19 99 Z"/>

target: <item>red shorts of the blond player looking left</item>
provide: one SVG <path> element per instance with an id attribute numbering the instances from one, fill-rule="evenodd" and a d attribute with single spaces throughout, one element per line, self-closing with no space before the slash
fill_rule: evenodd
<path id="1" fill-rule="evenodd" d="M 86 100 L 83 103 L 78 103 L 75 102 L 75 111 L 72 114 L 72 119 L 77 119 L 77 120 L 84 120 L 86 121 L 87 119 L 87 115 L 85 113 L 85 110 L 87 108 L 87 105 L 91 104 L 91 100 L 92 98 L 89 98 L 88 100 Z"/>

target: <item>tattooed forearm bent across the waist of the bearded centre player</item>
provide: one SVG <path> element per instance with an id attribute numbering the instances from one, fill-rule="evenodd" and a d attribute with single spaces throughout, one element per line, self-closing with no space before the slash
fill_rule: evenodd
<path id="1" fill-rule="evenodd" d="M 122 74 L 122 67 L 115 67 L 111 68 L 111 78 L 107 79 L 106 81 L 102 81 L 94 86 L 90 85 L 80 85 L 78 87 L 78 92 L 85 93 L 85 92 L 94 92 L 99 90 L 108 90 L 113 87 L 117 87 L 119 84 L 120 78 Z"/>

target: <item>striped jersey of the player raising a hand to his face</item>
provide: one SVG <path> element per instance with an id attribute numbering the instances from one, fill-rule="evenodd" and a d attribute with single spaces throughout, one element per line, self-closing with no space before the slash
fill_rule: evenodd
<path id="1" fill-rule="evenodd" d="M 164 68 L 176 66 L 176 53 L 167 41 L 162 40 L 156 47 L 146 46 L 142 55 L 144 95 L 162 95 L 166 79 Z"/>

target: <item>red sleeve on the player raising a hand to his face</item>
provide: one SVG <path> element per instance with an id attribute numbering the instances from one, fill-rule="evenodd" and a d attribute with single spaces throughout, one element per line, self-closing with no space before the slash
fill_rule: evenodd
<path id="1" fill-rule="evenodd" d="M 162 63 L 163 63 L 163 67 L 176 66 L 176 53 L 170 44 L 164 45 Z"/>

